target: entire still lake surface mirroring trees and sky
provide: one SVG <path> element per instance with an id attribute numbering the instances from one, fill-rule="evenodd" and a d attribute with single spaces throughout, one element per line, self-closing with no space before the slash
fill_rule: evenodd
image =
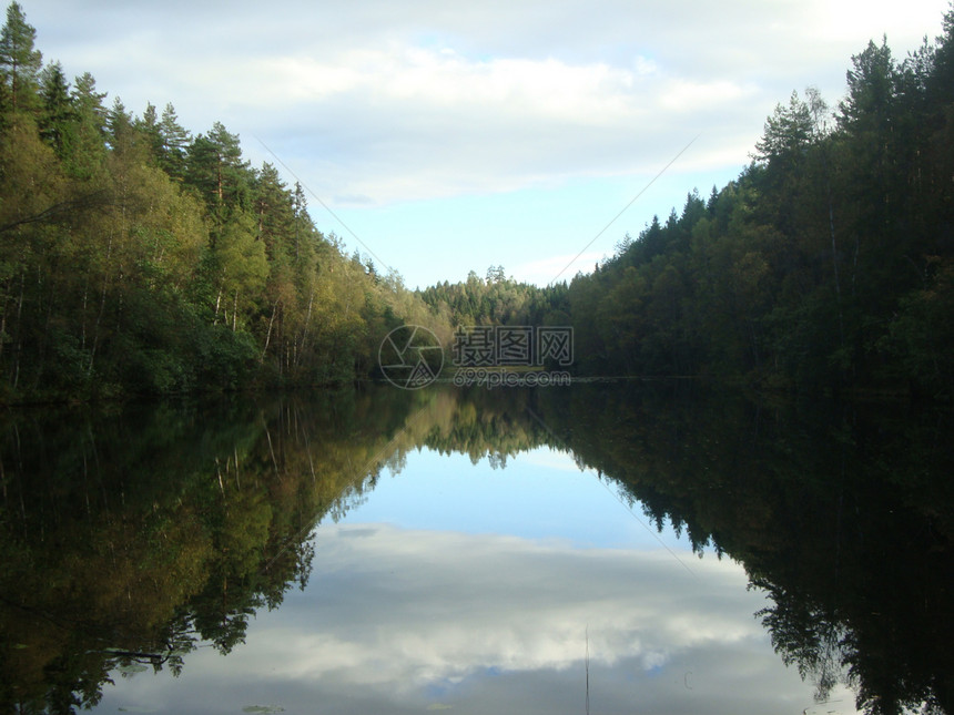
<path id="1" fill-rule="evenodd" d="M 954 435 L 450 387 L 0 418 L 0 712 L 954 713 Z"/>

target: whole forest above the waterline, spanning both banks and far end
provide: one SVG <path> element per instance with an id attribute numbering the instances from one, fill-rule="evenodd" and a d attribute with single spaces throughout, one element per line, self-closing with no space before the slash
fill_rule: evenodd
<path id="1" fill-rule="evenodd" d="M 954 395 L 954 9 L 910 57 L 808 88 L 751 163 L 546 288 L 501 265 L 409 290 L 317 229 L 307 192 L 221 123 L 106 106 L 44 64 L 17 2 L 0 38 L 0 401 L 347 384 L 424 325 L 569 325 L 578 376 L 798 394 Z M 493 259 L 493 257 L 491 257 Z"/>

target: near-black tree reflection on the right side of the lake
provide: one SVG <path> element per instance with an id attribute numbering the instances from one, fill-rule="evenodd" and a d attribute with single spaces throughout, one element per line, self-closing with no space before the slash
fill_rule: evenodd
<path id="1" fill-rule="evenodd" d="M 541 397 L 657 524 L 745 565 L 777 651 L 821 699 L 842 678 L 872 713 L 954 712 L 950 415 L 618 386 Z"/>

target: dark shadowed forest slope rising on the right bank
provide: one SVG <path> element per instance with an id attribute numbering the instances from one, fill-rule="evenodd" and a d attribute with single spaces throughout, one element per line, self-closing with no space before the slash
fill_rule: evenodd
<path id="1" fill-rule="evenodd" d="M 954 10 L 768 119 L 754 161 L 569 288 L 578 368 L 954 394 Z"/>

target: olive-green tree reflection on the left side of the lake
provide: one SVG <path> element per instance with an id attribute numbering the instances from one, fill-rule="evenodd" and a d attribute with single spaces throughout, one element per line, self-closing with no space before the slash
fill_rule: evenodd
<path id="1" fill-rule="evenodd" d="M 410 405 L 345 394 L 0 425 L 0 709 L 93 705 L 109 673 L 227 653 L 361 499 Z"/>

